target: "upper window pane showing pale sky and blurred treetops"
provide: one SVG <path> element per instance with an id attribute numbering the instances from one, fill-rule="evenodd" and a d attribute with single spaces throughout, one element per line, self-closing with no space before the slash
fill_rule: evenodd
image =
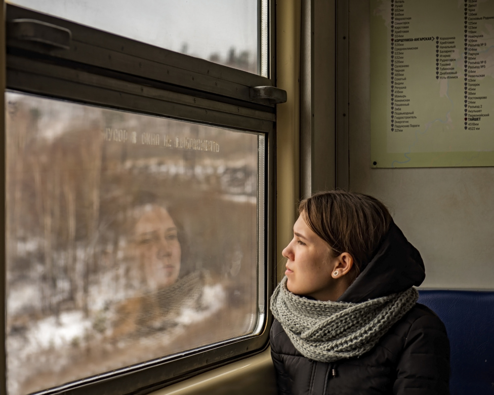
<path id="1" fill-rule="evenodd" d="M 268 77 L 268 0 L 8 0 L 132 40 Z"/>

